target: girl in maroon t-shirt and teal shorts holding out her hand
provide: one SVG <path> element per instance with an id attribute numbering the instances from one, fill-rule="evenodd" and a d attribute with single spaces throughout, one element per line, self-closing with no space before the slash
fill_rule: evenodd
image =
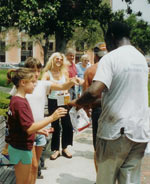
<path id="1" fill-rule="evenodd" d="M 8 109 L 8 153 L 10 164 L 14 164 L 16 184 L 30 183 L 32 165 L 32 148 L 37 131 L 65 116 L 67 110 L 57 109 L 51 116 L 34 123 L 30 105 L 26 94 L 31 94 L 36 86 L 34 71 L 27 68 L 12 69 L 7 73 L 8 81 L 16 86 L 16 94 L 10 100 Z"/>

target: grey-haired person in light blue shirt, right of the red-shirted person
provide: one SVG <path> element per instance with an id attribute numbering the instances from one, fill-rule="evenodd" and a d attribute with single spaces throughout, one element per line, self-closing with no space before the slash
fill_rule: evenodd
<path id="1" fill-rule="evenodd" d="M 86 69 L 90 66 L 89 64 L 89 57 L 87 54 L 84 54 L 81 56 L 81 62 L 76 64 L 76 69 L 77 69 L 77 76 L 81 79 L 84 78 L 84 72 Z M 78 85 L 75 86 L 76 90 L 76 98 L 80 97 L 82 94 L 82 86 Z"/>

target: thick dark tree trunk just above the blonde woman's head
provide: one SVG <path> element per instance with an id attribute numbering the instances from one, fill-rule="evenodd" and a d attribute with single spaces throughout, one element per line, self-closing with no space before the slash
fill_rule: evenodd
<path id="1" fill-rule="evenodd" d="M 66 50 L 67 41 L 66 41 L 63 33 L 56 31 L 55 41 L 56 41 L 56 52 L 64 53 Z"/>

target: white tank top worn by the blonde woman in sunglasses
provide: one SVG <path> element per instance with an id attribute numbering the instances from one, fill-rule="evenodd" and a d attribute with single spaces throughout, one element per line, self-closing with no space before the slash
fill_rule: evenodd
<path id="1" fill-rule="evenodd" d="M 55 82 L 55 83 L 58 83 L 58 84 L 63 84 L 63 83 L 66 82 L 65 75 L 62 75 L 60 80 L 55 80 L 53 78 L 53 75 L 52 75 L 52 73 L 50 71 L 48 71 L 48 74 L 50 76 L 50 81 L 52 81 L 52 82 Z M 48 95 L 48 98 L 50 98 L 50 99 L 57 99 L 57 95 L 61 94 L 61 93 L 62 93 L 62 91 L 52 90 L 51 93 Z"/>

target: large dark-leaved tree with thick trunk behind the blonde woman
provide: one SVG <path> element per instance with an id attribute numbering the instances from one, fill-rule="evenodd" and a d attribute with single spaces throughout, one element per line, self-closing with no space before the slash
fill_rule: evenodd
<path id="1" fill-rule="evenodd" d="M 74 30 L 86 26 L 98 8 L 103 11 L 101 5 L 102 0 L 2 0 L 0 26 L 18 27 L 29 36 L 42 33 L 46 61 L 49 36 L 55 35 L 56 51 L 64 51 Z"/>

